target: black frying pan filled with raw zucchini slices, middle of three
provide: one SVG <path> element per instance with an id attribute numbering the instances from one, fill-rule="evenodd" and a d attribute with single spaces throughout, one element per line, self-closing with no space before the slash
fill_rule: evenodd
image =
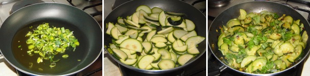
<path id="1" fill-rule="evenodd" d="M 193 21 L 196 25 L 195 31 L 197 32 L 197 35 L 204 36 L 206 37 L 206 16 L 193 6 L 182 2 L 182 1 L 177 1 L 177 0 L 152 0 L 152 1 L 144 1 L 144 0 L 134 0 L 134 1 L 129 1 L 127 3 L 122 4 L 121 6 L 117 7 L 114 9 L 108 16 L 104 19 L 104 24 L 108 22 L 117 22 L 118 17 L 123 17 L 126 18 L 127 16 L 132 15 L 133 13 L 136 12 L 136 8 L 140 5 L 146 5 L 150 8 L 153 7 L 158 7 L 163 9 L 164 11 L 170 11 L 170 12 L 177 12 L 177 13 L 184 13 L 186 14 L 186 19 L 189 19 Z M 104 26 L 106 27 L 106 26 Z M 105 50 L 109 48 L 109 44 L 112 43 L 113 37 L 106 34 L 106 29 L 104 28 L 104 46 L 107 46 L 104 48 Z M 144 34 L 146 35 L 146 34 Z M 152 74 L 159 74 L 159 73 L 167 73 L 175 70 L 182 69 L 201 57 L 205 52 L 206 52 L 206 40 L 203 41 L 201 44 L 198 44 L 198 50 L 200 51 L 200 54 L 197 55 L 195 58 L 191 59 L 187 64 L 172 68 L 172 69 L 167 69 L 167 70 L 144 70 L 144 69 L 139 69 L 135 68 L 129 65 L 126 65 L 119 60 L 115 59 L 112 55 L 108 54 L 111 56 L 115 61 L 117 61 L 119 64 L 143 73 L 152 73 Z M 181 72 L 180 72 L 181 73 Z"/>

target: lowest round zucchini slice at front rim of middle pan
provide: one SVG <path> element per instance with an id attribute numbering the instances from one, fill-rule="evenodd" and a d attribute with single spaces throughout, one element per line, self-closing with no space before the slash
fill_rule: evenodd
<path id="1" fill-rule="evenodd" d="M 159 63 L 158 66 L 160 69 L 171 69 L 174 68 L 175 64 L 174 61 L 170 59 L 162 59 Z"/>

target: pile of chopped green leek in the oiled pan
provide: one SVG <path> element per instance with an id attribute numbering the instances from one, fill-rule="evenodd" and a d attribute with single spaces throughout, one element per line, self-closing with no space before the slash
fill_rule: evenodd
<path id="1" fill-rule="evenodd" d="M 29 51 L 27 51 L 27 54 L 29 56 L 33 56 L 34 54 L 39 55 L 37 63 L 43 62 L 43 59 L 50 60 L 51 68 L 55 67 L 56 62 L 60 60 L 54 59 L 55 55 L 65 53 L 70 48 L 74 48 L 73 51 L 75 51 L 75 48 L 80 45 L 73 31 L 64 27 L 50 27 L 49 23 L 42 23 L 37 28 L 33 28 L 33 26 L 29 28 L 33 29 L 33 31 L 29 31 L 25 35 L 28 37 L 26 44 L 28 45 Z M 18 48 L 20 47 L 18 46 Z M 63 55 L 62 57 L 66 59 L 69 55 Z M 39 68 L 39 70 L 43 69 Z"/>

